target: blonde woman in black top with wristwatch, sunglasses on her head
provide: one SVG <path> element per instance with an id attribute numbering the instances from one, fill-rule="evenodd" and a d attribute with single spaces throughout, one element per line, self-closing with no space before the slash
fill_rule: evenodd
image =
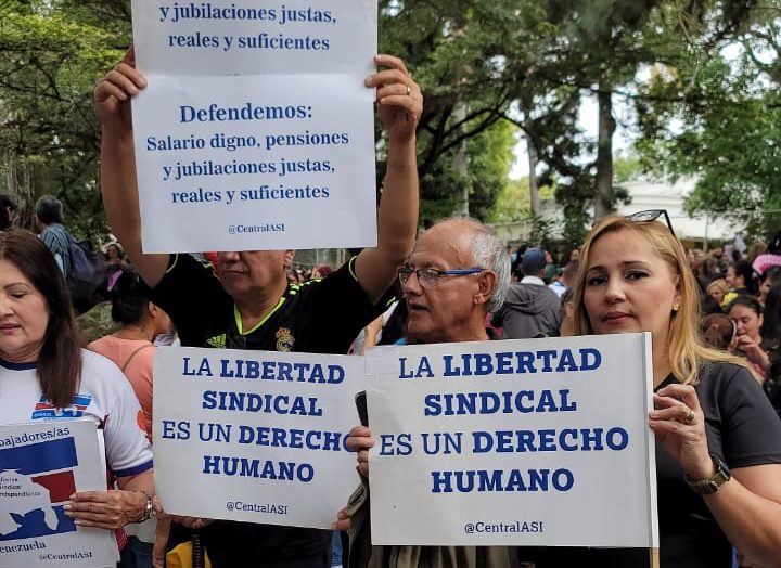
<path id="1" fill-rule="evenodd" d="M 580 262 L 579 335 L 651 332 L 660 566 L 728 568 L 733 544 L 778 565 L 781 422 L 740 359 L 700 343 L 699 286 L 679 241 L 661 222 L 611 216 L 591 231 Z M 649 565 L 645 548 L 528 556 L 536 568 Z"/>

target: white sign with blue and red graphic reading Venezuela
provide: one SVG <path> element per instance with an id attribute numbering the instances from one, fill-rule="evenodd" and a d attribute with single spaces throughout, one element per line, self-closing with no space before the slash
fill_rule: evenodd
<path id="1" fill-rule="evenodd" d="M 0 426 L 0 567 L 114 566 L 114 533 L 78 527 L 63 511 L 76 491 L 105 489 L 94 422 Z"/>

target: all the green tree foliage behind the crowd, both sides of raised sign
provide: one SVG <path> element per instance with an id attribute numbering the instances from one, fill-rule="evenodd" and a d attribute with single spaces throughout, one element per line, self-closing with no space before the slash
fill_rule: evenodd
<path id="1" fill-rule="evenodd" d="M 578 244 L 594 205 L 625 197 L 611 145 L 619 96 L 637 103 L 643 164 L 700 177 L 692 208 L 778 208 L 774 2 L 380 0 L 380 51 L 404 57 L 425 94 L 422 221 L 451 215 L 464 188 L 473 216 L 520 215 L 507 203 L 514 125 Z M 129 44 L 129 0 L 0 0 L 0 175 L 26 210 L 53 193 L 84 231 L 100 229 L 91 89 Z M 721 56 L 730 42 L 744 44 L 738 70 Z M 578 126 L 585 96 L 601 103 L 596 140 Z"/>

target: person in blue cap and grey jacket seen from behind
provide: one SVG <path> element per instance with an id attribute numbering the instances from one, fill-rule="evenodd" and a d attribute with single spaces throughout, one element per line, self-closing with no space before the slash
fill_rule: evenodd
<path id="1" fill-rule="evenodd" d="M 559 333 L 561 300 L 542 281 L 546 256 L 541 248 L 528 248 L 521 260 L 524 277 L 510 285 L 504 304 L 491 324 L 502 327 L 504 339 L 555 336 Z"/>

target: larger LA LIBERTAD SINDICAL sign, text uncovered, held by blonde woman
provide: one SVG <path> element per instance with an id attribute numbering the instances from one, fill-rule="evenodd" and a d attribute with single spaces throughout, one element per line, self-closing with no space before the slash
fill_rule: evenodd
<path id="1" fill-rule="evenodd" d="M 650 334 L 367 353 L 374 544 L 657 547 Z"/>

